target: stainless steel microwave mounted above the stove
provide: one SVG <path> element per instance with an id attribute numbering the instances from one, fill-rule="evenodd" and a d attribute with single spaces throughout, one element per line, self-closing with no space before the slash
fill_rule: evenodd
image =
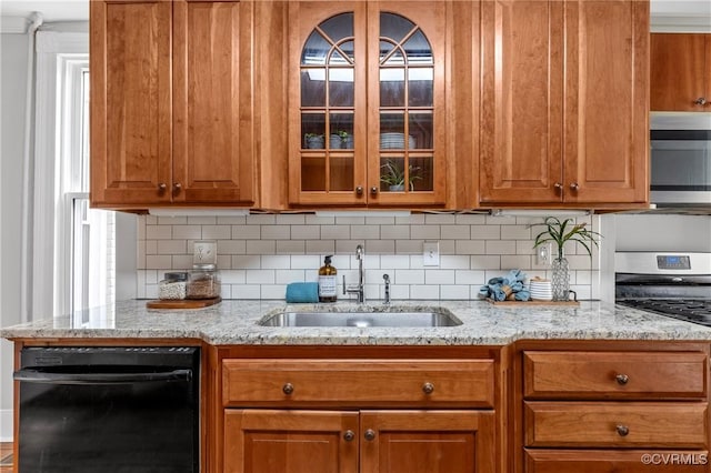
<path id="1" fill-rule="evenodd" d="M 650 114 L 650 201 L 711 207 L 711 113 Z"/>

